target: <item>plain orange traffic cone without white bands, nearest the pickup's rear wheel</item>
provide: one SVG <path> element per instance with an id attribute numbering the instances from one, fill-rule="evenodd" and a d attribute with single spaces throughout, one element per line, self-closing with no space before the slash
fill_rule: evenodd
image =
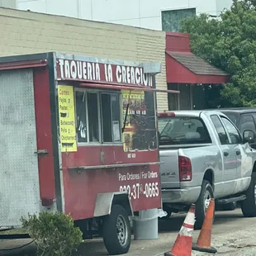
<path id="1" fill-rule="evenodd" d="M 206 211 L 206 217 L 201 227 L 200 235 L 197 239 L 197 244 L 192 245 L 192 249 L 210 254 L 216 254 L 217 249 L 211 247 L 211 229 L 214 217 L 215 201 L 211 198 L 210 205 Z"/>

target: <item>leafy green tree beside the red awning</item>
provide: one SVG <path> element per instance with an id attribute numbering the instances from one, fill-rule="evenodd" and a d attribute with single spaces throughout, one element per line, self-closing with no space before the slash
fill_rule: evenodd
<path id="1" fill-rule="evenodd" d="M 256 0 L 234 0 L 220 17 L 188 17 L 181 31 L 191 37 L 192 52 L 230 73 L 220 91 L 221 107 L 256 106 Z"/>

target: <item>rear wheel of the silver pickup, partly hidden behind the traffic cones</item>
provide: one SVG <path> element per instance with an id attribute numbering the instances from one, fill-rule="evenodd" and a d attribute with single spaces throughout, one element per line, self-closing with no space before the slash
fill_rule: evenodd
<path id="1" fill-rule="evenodd" d="M 201 183 L 201 192 L 196 202 L 196 223 L 195 230 L 201 230 L 201 226 L 206 216 L 206 199 L 214 198 L 211 184 L 207 180 Z"/>

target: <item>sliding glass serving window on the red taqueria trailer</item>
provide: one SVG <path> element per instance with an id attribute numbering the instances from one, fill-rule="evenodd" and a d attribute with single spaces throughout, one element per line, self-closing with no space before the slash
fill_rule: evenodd
<path id="1" fill-rule="evenodd" d="M 118 92 L 76 90 L 78 143 L 121 143 Z"/>

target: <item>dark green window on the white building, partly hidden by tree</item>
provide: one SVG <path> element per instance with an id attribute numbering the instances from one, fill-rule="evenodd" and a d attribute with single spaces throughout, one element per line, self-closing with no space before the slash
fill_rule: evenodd
<path id="1" fill-rule="evenodd" d="M 162 11 L 162 30 L 178 32 L 181 21 L 196 14 L 196 8 Z"/>

